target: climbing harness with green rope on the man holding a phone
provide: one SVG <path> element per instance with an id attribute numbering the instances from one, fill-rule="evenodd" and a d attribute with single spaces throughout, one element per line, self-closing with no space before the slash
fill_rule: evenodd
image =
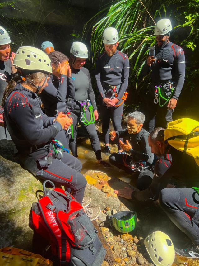
<path id="1" fill-rule="evenodd" d="M 173 92 L 174 92 L 174 82 L 170 82 L 169 81 L 169 89 L 163 89 L 161 90 L 161 88 L 163 88 L 163 86 L 159 85 L 159 86 L 155 86 L 155 99 L 153 100 L 153 102 L 155 104 L 159 103 L 160 107 L 163 107 L 167 102 L 169 102 L 169 100 L 171 99 Z M 163 96 L 163 93 L 166 95 L 167 98 L 165 98 L 165 96 Z M 159 99 L 158 99 L 159 97 Z M 163 104 L 161 104 L 161 99 L 164 100 L 165 102 Z"/>

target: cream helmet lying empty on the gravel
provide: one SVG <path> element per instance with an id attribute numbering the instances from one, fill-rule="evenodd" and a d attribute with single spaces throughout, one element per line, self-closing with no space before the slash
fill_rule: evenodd
<path id="1" fill-rule="evenodd" d="M 144 240 L 150 258 L 156 266 L 171 266 L 174 262 L 174 245 L 168 235 L 155 231 Z"/>

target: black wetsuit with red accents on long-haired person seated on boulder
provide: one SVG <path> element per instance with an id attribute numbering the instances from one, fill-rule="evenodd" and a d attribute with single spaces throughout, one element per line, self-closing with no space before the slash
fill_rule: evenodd
<path id="1" fill-rule="evenodd" d="M 62 126 L 42 112 L 35 93 L 17 84 L 6 100 L 4 120 L 23 167 L 42 179 L 64 185 L 81 203 L 87 183 L 80 173 L 81 163 L 66 152 L 62 160 L 56 159 L 49 143 Z"/>

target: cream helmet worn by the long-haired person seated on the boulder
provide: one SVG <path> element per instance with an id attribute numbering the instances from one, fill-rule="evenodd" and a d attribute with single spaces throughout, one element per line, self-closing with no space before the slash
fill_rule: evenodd
<path id="1" fill-rule="evenodd" d="M 21 69 L 41 70 L 52 73 L 52 64 L 48 55 L 32 46 L 19 47 L 16 51 L 13 65 Z"/>

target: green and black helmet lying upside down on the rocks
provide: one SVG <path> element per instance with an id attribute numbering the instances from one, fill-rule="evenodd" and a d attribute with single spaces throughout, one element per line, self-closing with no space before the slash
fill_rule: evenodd
<path id="1" fill-rule="evenodd" d="M 120 211 L 109 217 L 111 226 L 121 233 L 133 231 L 137 224 L 135 211 Z"/>

